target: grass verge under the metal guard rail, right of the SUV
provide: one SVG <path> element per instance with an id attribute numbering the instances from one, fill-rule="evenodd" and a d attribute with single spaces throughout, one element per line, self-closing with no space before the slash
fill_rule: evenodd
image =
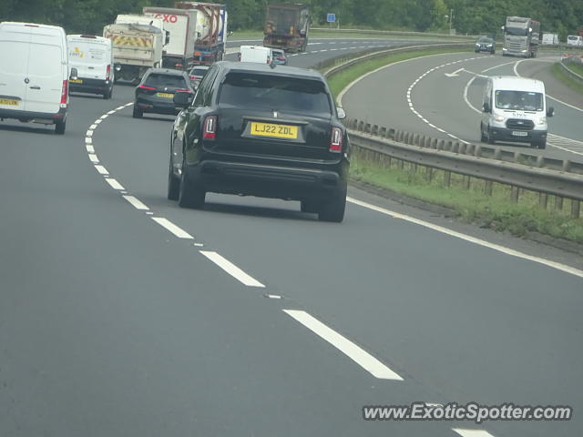
<path id="1" fill-rule="evenodd" d="M 416 171 L 412 168 L 414 166 L 407 163 L 403 169 L 394 164 L 389 168 L 353 156 L 350 174 L 351 178 L 375 187 L 451 208 L 459 219 L 481 228 L 507 231 L 518 237 L 535 231 L 583 243 L 583 219 L 570 217 L 571 204 L 567 199 L 558 210 L 554 209 L 555 204 L 549 196 L 548 209 L 545 209 L 539 206 L 538 193 L 521 189 L 520 201 L 514 203 L 510 200 L 510 188 L 505 185 L 494 183 L 492 196 L 487 196 L 484 181 L 472 179 L 468 189 L 465 188 L 466 178 L 452 174 L 451 185 L 445 188 L 443 171 L 435 170 L 430 181 L 424 168 Z"/>

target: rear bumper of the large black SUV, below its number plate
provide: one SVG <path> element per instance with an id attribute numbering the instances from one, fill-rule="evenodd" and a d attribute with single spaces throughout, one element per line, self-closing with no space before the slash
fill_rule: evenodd
<path id="1" fill-rule="evenodd" d="M 205 160 L 186 171 L 188 179 L 205 191 L 299 200 L 325 198 L 343 189 L 348 162 L 322 169 Z"/>

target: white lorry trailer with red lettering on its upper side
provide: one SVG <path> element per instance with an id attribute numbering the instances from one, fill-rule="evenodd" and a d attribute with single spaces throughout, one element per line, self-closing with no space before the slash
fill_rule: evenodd
<path id="1" fill-rule="evenodd" d="M 159 18 L 164 29 L 170 33 L 169 44 L 163 56 L 162 66 L 166 68 L 186 69 L 192 64 L 196 26 L 199 12 L 197 10 L 172 7 L 147 6 L 144 15 Z"/>

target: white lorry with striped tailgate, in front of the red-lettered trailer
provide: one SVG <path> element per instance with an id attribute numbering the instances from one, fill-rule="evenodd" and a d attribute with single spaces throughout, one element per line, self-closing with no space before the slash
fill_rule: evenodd
<path id="1" fill-rule="evenodd" d="M 116 80 L 138 83 L 148 68 L 162 66 L 162 30 L 149 24 L 113 24 L 103 28 L 103 36 L 111 39 Z"/>

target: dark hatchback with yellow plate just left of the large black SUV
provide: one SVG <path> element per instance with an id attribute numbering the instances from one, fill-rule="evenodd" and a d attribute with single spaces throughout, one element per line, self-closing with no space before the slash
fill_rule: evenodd
<path id="1" fill-rule="evenodd" d="M 177 93 L 194 94 L 186 72 L 169 68 L 148 69 L 136 87 L 134 118 L 141 118 L 145 112 L 177 115 L 180 109 L 172 100 Z"/>

